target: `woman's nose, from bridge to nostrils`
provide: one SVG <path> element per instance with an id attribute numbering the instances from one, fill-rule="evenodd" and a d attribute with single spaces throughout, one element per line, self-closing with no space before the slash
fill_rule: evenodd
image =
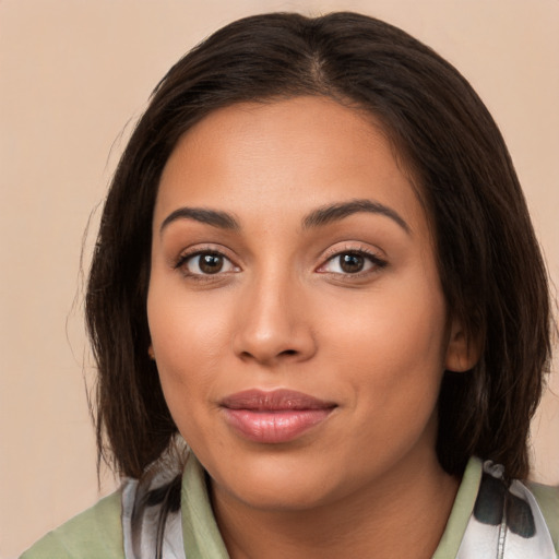
<path id="1" fill-rule="evenodd" d="M 317 341 L 305 299 L 302 287 L 288 277 L 247 285 L 239 298 L 235 354 L 267 367 L 310 359 Z"/>

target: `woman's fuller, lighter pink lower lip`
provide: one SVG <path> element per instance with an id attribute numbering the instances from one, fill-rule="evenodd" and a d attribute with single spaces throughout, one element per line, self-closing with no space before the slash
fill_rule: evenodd
<path id="1" fill-rule="evenodd" d="M 273 444 L 289 442 L 301 436 L 324 421 L 332 408 L 255 412 L 226 407 L 224 411 L 229 426 L 243 438 Z"/>

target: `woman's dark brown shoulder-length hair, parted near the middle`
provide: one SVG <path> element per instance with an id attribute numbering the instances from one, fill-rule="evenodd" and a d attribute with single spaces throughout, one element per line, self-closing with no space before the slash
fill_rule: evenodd
<path id="1" fill-rule="evenodd" d="M 355 13 L 234 22 L 154 91 L 110 186 L 86 295 L 99 456 L 140 477 L 177 432 L 147 356 L 146 294 L 158 181 L 178 139 L 216 108 L 309 94 L 349 100 L 382 123 L 426 206 L 450 312 L 481 346 L 472 370 L 447 371 L 442 382 L 442 466 L 459 474 L 476 454 L 525 477 L 550 318 L 545 267 L 509 153 L 451 64 L 401 29 Z"/>

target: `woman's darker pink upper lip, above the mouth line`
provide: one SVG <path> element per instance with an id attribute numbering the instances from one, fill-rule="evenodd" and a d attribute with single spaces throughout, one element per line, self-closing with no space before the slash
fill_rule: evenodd
<path id="1" fill-rule="evenodd" d="M 334 402 L 285 389 L 273 391 L 245 390 L 224 397 L 221 405 L 229 409 L 249 409 L 253 412 L 329 409 L 336 406 Z"/>

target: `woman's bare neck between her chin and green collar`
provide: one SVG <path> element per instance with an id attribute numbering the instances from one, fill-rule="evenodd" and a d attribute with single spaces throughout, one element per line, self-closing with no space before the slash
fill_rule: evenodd
<path id="1" fill-rule="evenodd" d="M 457 487 L 431 456 L 406 461 L 370 487 L 306 510 L 255 509 L 218 487 L 212 487 L 212 498 L 231 559 L 330 559 L 371 551 L 376 559 L 423 559 L 437 549 Z"/>

